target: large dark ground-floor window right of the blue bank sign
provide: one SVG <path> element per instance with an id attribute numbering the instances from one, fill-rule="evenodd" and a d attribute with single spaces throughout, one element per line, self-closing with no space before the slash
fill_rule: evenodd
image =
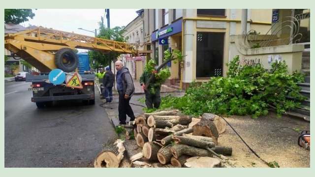
<path id="1" fill-rule="evenodd" d="M 197 32 L 196 77 L 222 76 L 223 32 Z"/>

